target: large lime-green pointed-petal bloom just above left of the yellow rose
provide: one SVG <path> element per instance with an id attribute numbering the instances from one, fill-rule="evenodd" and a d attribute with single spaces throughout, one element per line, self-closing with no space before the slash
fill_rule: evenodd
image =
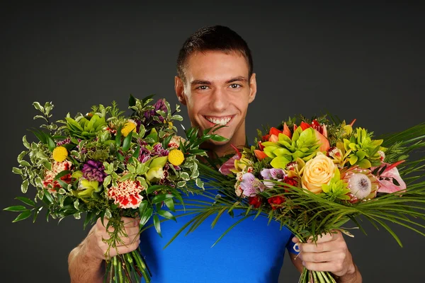
<path id="1" fill-rule="evenodd" d="M 314 129 L 307 128 L 303 131 L 301 127 L 297 127 L 292 139 L 286 134 L 279 134 L 278 141 L 265 141 L 262 145 L 265 146 L 264 153 L 273 158 L 271 166 L 282 169 L 297 158 L 309 161 L 319 151 L 320 146 Z"/>

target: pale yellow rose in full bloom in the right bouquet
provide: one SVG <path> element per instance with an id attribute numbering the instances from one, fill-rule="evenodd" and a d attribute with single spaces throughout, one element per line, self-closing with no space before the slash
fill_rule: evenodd
<path id="1" fill-rule="evenodd" d="M 335 164 L 331 158 L 318 152 L 317 155 L 305 163 L 301 183 L 302 187 L 314 194 L 322 192 L 322 185 L 329 185 L 334 176 Z"/>

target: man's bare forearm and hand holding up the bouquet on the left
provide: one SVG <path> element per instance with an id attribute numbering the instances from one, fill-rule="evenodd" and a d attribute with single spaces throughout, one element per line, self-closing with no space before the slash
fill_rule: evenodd
<path id="1" fill-rule="evenodd" d="M 109 250 L 109 256 L 113 257 L 122 253 L 130 253 L 137 249 L 140 244 L 139 224 L 136 219 L 123 217 L 125 233 L 120 236 L 123 244 Z M 104 224 L 106 226 L 107 220 Z M 105 274 L 104 260 L 108 245 L 103 239 L 109 238 L 108 232 L 103 226 L 101 219 L 91 228 L 86 238 L 74 248 L 68 256 L 68 271 L 72 283 L 101 283 Z"/>

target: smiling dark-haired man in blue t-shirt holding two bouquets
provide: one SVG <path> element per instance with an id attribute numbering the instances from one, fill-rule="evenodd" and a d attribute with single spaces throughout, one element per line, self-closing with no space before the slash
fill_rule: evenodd
<path id="1" fill-rule="evenodd" d="M 222 156 L 229 153 L 231 145 L 244 145 L 246 111 L 256 96 L 256 74 L 251 52 L 242 37 L 223 26 L 202 28 L 186 40 L 177 64 L 176 95 L 187 106 L 192 125 L 200 129 L 217 124 L 227 126 L 217 134 L 228 141 L 210 141 L 205 148 Z M 310 270 L 333 272 L 338 282 L 361 282 L 341 233 L 323 236 L 317 246 L 297 243 L 288 229 L 280 230 L 275 221 L 267 225 L 268 219 L 262 217 L 242 221 L 210 248 L 237 221 L 222 215 L 214 229 L 202 224 L 163 249 L 189 219 L 191 216 L 183 216 L 177 223 L 163 222 L 164 238 L 154 229 L 147 229 L 137 241 L 133 241 L 137 236 L 137 221 L 124 219 L 128 222 L 128 238 L 123 239 L 125 243 L 118 253 L 135 250 L 140 243 L 154 283 L 278 282 L 285 249 L 297 270 L 301 271 L 305 265 Z M 102 237 L 107 237 L 107 233 L 98 221 L 86 239 L 72 250 L 69 255 L 72 282 L 102 281 L 107 248 Z M 294 249 L 295 243 L 301 250 L 300 256 Z M 115 250 L 111 250 L 113 255 Z"/>

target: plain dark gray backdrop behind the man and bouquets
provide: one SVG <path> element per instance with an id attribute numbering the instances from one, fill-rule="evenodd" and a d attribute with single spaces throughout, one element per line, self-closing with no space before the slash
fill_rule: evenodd
<path id="1" fill-rule="evenodd" d="M 13 197 L 21 195 L 21 178 L 11 168 L 26 129 L 40 125 L 33 101 L 52 101 L 57 120 L 112 100 L 126 108 L 130 93 L 157 93 L 175 105 L 177 53 L 204 25 L 228 25 L 253 52 L 259 89 L 247 117 L 249 139 L 261 125 L 324 110 L 357 118 L 356 125 L 376 134 L 425 120 L 424 8 L 416 2 L 159 2 L 1 4 L 1 208 L 18 204 Z M 12 224 L 15 216 L 0 212 L 1 276 L 69 282 L 67 254 L 89 229 L 74 219 Z M 404 248 L 368 224 L 368 236 L 353 231 L 355 238 L 347 238 L 364 282 L 424 277 L 424 238 L 392 227 Z M 297 277 L 285 260 L 280 282 Z"/>

